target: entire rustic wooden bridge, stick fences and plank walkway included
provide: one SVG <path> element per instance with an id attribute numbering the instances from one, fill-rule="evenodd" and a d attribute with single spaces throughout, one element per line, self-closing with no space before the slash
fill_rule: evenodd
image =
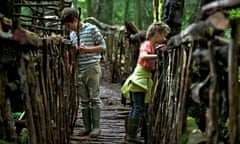
<path id="1" fill-rule="evenodd" d="M 61 0 L 61 2 L 64 1 Z M 63 3 L 63 6 L 67 4 L 68 3 Z M 218 4 L 218 9 L 229 9 L 239 6 L 240 3 L 236 0 L 224 0 L 222 3 L 216 2 L 207 5 L 203 7 L 203 10 L 208 12 L 208 10 L 214 9 L 213 6 L 216 4 Z M 14 6 L 38 7 L 35 3 L 21 4 L 17 2 L 14 3 Z M 5 29 L 9 29 L 9 27 L 15 26 L 18 23 L 13 21 L 14 25 L 12 25 L 5 17 L 8 15 L 0 14 L 0 19 L 3 21 L 5 28 L 0 29 L 2 34 L 0 36 L 0 59 L 2 60 L 0 63 L 0 108 L 3 117 L 2 121 L 4 122 L 2 126 L 4 130 L 6 130 L 5 140 L 11 142 L 18 140 L 19 135 L 17 135 L 18 133 L 15 131 L 16 128 L 13 125 L 15 119 L 12 116 L 12 112 L 15 112 L 14 109 L 16 108 L 12 108 L 10 102 L 12 102 L 11 98 L 16 100 L 16 98 L 23 97 L 24 101 L 22 101 L 22 103 L 24 107 L 22 111 L 26 113 L 24 119 L 19 122 L 23 121 L 24 125 L 27 125 L 28 143 L 65 144 L 66 140 L 69 140 L 72 144 L 123 143 L 125 136 L 124 118 L 129 111 L 129 107 L 124 107 L 120 104 L 119 85 L 115 88 L 116 91 L 109 89 L 109 91 L 105 91 L 105 93 L 101 95 L 103 100 L 100 121 L 102 128 L 101 135 L 98 138 L 80 137 L 77 135 L 79 129 L 82 127 L 82 123 L 81 113 L 75 113 L 78 108 L 76 102 L 78 96 L 78 91 L 76 91 L 76 67 L 74 66 L 74 64 L 76 64 L 74 63 L 74 61 L 76 61 L 74 57 L 75 48 L 69 43 L 65 43 L 65 41 L 63 41 L 64 39 L 60 39 L 56 35 L 39 39 L 38 36 L 26 31 L 27 29 L 35 33 L 44 31 L 43 34 L 50 34 L 51 31 L 56 31 L 58 34 L 58 32 L 60 33 L 64 30 L 60 28 L 61 24 L 59 20 L 42 16 L 46 16 L 45 12 L 55 13 L 60 9 L 54 7 L 54 10 L 51 8 L 51 10 L 42 11 L 43 5 L 40 4 L 39 6 L 40 7 L 32 10 L 40 16 L 21 15 L 23 20 L 30 18 L 33 23 L 30 25 L 22 25 L 25 29 L 21 27 L 15 29 L 10 28 L 12 33 L 5 31 Z M 4 14 L 12 13 L 14 13 L 14 17 L 20 16 L 18 11 L 4 12 Z M 231 41 L 226 42 L 222 40 L 222 37 L 219 37 L 219 29 L 212 27 L 214 23 L 211 22 L 214 22 L 216 20 L 214 18 L 218 19 L 220 16 L 224 26 L 226 26 L 221 30 L 225 30 L 227 28 L 225 24 L 229 23 L 229 19 L 224 13 L 220 13 L 220 15 L 219 13 L 214 14 L 209 16 L 206 21 L 200 21 L 194 25 L 194 27 L 190 25 L 190 28 L 187 28 L 169 40 L 168 55 L 163 55 L 163 61 L 159 61 L 159 64 L 157 64 L 160 69 L 157 69 L 158 73 L 154 78 L 154 93 L 151 99 L 152 103 L 149 104 L 150 111 L 148 116 L 152 119 L 149 121 L 151 130 L 148 133 L 148 143 L 165 144 L 181 142 L 183 132 L 186 129 L 187 112 L 190 107 L 186 102 L 189 102 L 188 98 L 190 93 L 197 93 L 193 99 L 199 102 L 199 96 L 202 96 L 200 89 L 201 92 L 204 93 L 203 99 L 205 100 L 205 98 L 207 98 L 207 104 L 209 104 L 209 107 L 207 107 L 204 113 L 204 116 L 207 115 L 208 117 L 204 119 L 207 122 L 206 125 L 204 124 L 204 126 L 206 126 L 206 131 L 204 132 L 207 136 L 203 142 L 216 144 L 223 141 L 231 141 L 232 144 L 239 143 L 240 122 L 239 119 L 237 119 L 239 115 L 239 83 L 237 78 L 239 61 L 237 61 L 237 59 L 239 58 L 238 35 L 240 22 L 239 19 L 231 20 L 231 27 L 234 31 L 232 31 L 231 34 Z M 59 26 L 54 29 L 44 29 L 45 26 L 40 25 L 42 23 L 35 23 L 41 21 L 35 19 L 41 19 L 43 21 L 51 20 L 54 26 L 55 24 L 59 24 Z M 215 24 L 219 25 L 219 22 L 217 21 Z M 203 29 L 203 27 L 205 29 Z M 121 37 L 119 36 L 118 42 L 121 45 L 126 44 L 122 37 L 123 31 L 120 32 Z M 9 36 L 9 34 L 12 36 Z M 132 54 L 130 51 L 132 49 L 120 47 L 118 43 L 116 43 L 115 37 L 113 38 L 113 35 L 107 34 L 109 49 L 106 57 L 108 61 L 112 60 L 110 68 L 107 69 L 113 69 L 112 81 L 118 80 L 117 82 L 119 82 L 119 80 L 123 80 L 122 77 L 124 78 L 128 75 L 128 72 L 131 71 L 131 67 L 129 67 L 130 65 L 128 64 L 132 57 L 122 57 L 122 55 Z M 36 42 L 41 42 L 41 46 Z M 203 48 L 199 47 L 201 46 L 200 42 L 202 44 L 208 44 L 207 46 L 204 45 L 206 49 L 200 49 Z M 224 46 L 227 47 L 219 48 L 217 44 L 221 46 L 224 44 Z M 127 44 L 125 46 L 127 46 Z M 200 52 L 198 53 L 199 55 L 195 55 L 195 58 L 196 56 L 199 56 L 199 58 L 204 56 L 203 60 L 209 58 L 209 60 L 203 61 L 203 64 L 206 62 L 210 64 L 211 67 L 207 67 L 207 69 L 200 67 L 202 63 L 197 63 L 193 57 L 195 50 L 199 50 Z M 230 61 L 233 63 L 227 63 L 227 61 L 219 59 L 220 57 L 216 55 L 218 54 L 217 50 L 221 50 L 219 51 L 220 57 L 229 56 L 229 58 L 231 58 Z M 119 51 L 120 54 L 118 54 Z M 210 57 L 204 55 L 206 51 L 211 52 L 209 54 Z M 221 52 L 223 52 L 223 55 L 221 55 Z M 123 61 L 124 64 L 122 63 Z M 226 65 L 222 65 L 224 62 L 226 62 Z M 204 68 L 199 70 L 205 73 L 201 75 L 196 69 L 193 69 L 193 63 L 197 64 L 194 68 Z M 124 70 L 127 71 L 123 74 L 117 71 L 122 65 L 124 65 Z M 168 66 L 168 69 L 165 66 Z M 229 71 L 225 71 L 226 68 Z M 217 70 L 222 71 L 220 73 Z M 209 75 L 208 77 L 205 74 L 216 75 Z M 193 79 L 196 78 L 196 76 L 201 79 Z M 210 80 L 211 85 L 205 80 Z M 189 89 L 192 84 L 196 86 L 192 89 L 195 91 L 190 91 Z M 104 90 L 106 90 L 106 88 L 103 86 L 102 91 Z M 117 96 L 112 97 L 113 94 Z M 224 100 L 224 103 L 218 103 L 220 102 L 220 98 Z M 227 103 L 226 100 L 229 100 L 229 102 Z M 17 104 L 22 103 L 18 102 Z M 229 106 L 228 104 L 231 105 Z M 17 110 L 19 111 L 19 109 Z M 225 112 L 229 112 L 229 115 L 225 114 Z M 74 121 L 75 118 L 77 120 L 76 123 Z M 229 119 L 230 122 L 228 127 L 229 134 L 222 136 L 223 126 L 225 126 L 223 124 L 226 124 L 225 120 L 227 119 Z M 73 134 L 69 136 L 68 130 L 72 130 L 72 128 L 74 128 L 74 130 L 71 131 Z M 224 140 L 222 140 L 222 138 L 224 138 Z"/>

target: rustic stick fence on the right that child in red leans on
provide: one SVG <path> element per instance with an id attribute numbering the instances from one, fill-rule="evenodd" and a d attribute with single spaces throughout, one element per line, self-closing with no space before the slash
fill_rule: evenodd
<path id="1" fill-rule="evenodd" d="M 171 37 L 168 53 L 159 54 L 148 109 L 149 144 L 187 143 L 183 141 L 187 116 L 200 119 L 198 126 L 205 133 L 206 139 L 195 143 L 240 142 L 240 25 L 239 19 L 229 20 L 221 11 L 238 5 L 237 1 L 224 1 L 203 7 L 203 12 L 212 14 Z M 230 41 L 222 37 L 228 26 L 232 29 Z"/>

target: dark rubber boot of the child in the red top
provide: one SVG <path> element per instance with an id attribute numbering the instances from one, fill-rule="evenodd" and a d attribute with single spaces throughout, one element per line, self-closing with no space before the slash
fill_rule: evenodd
<path id="1" fill-rule="evenodd" d="M 127 138 L 126 143 L 136 143 L 142 144 L 143 141 L 137 137 L 139 127 L 139 119 L 137 118 L 128 118 L 128 126 L 127 126 Z"/>

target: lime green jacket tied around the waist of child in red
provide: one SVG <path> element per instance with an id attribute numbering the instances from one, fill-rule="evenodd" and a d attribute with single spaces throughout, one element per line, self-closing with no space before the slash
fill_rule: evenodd
<path id="1" fill-rule="evenodd" d="M 152 72 L 137 64 L 134 72 L 127 78 L 121 88 L 123 96 L 130 99 L 129 92 L 145 92 L 145 103 L 149 103 L 153 85 Z"/>

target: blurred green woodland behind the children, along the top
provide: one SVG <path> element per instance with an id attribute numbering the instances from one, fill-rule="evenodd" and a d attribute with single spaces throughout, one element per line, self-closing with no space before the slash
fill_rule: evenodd
<path id="1" fill-rule="evenodd" d="M 164 9 L 169 3 L 175 3 L 174 9 L 177 17 L 172 18 L 172 29 L 177 34 L 185 29 L 189 24 L 200 20 L 201 6 L 213 0 L 65 0 L 71 1 L 72 7 L 81 8 L 81 19 L 94 17 L 102 23 L 108 25 L 123 26 L 124 21 L 133 22 L 139 30 L 146 30 L 153 21 L 169 21 L 169 17 L 164 14 Z M 44 2 L 43 2 L 44 3 Z M 46 2 L 51 3 L 51 2 Z M 54 3 L 54 2 L 52 2 Z M 9 6 L 11 9 L 12 7 Z M 29 8 L 22 8 L 22 14 L 31 14 Z M 240 9 L 229 10 L 229 17 L 240 17 Z M 172 13 L 173 14 L 173 13 Z M 11 16 L 12 14 L 9 14 Z M 226 34 L 230 38 L 230 33 Z"/>

